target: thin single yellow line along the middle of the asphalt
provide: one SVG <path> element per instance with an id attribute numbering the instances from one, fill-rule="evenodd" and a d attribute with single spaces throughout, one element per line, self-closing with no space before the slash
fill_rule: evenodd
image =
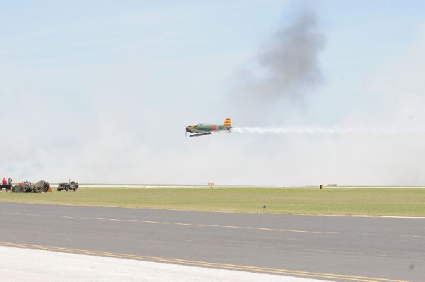
<path id="1" fill-rule="evenodd" d="M 29 214 L 29 213 L 1 213 L 1 214 L 11 214 L 16 216 L 41 216 L 40 214 Z M 74 218 L 74 219 L 85 219 L 85 220 L 94 220 L 94 221 L 123 221 L 123 222 L 132 222 L 132 223 L 188 225 L 188 226 L 202 226 L 202 227 L 215 227 L 215 228 L 236 228 L 236 229 L 267 230 L 267 231 L 295 232 L 295 233 L 338 234 L 336 232 L 324 232 L 324 231 L 291 230 L 291 229 L 280 229 L 280 228 L 258 228 L 258 227 L 246 227 L 246 226 L 210 225 L 210 224 L 196 224 L 196 223 L 171 223 L 171 222 L 162 222 L 162 221 L 139 221 L 139 220 L 132 220 L 132 219 L 118 219 L 118 218 L 89 218 L 89 217 L 77 217 L 77 216 L 44 216 L 44 217 Z"/>

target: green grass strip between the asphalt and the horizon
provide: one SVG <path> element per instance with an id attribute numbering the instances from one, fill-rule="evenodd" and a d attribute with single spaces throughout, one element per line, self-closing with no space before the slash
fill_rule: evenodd
<path id="1" fill-rule="evenodd" d="M 0 201 L 237 213 L 425 216 L 425 189 L 415 188 L 54 189 L 45 194 L 0 192 Z"/>

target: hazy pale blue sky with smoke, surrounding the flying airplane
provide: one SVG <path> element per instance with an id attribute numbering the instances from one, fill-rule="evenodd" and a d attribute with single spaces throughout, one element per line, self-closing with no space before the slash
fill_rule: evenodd
<path id="1" fill-rule="evenodd" d="M 425 184 L 424 1 L 0 1 L 0 25 L 1 177 Z"/>

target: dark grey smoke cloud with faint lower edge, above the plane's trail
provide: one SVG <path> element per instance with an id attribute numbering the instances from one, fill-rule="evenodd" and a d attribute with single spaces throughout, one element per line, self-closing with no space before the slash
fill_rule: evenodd
<path id="1" fill-rule="evenodd" d="M 293 112 L 303 111 L 310 91 L 323 82 L 319 54 L 324 43 L 315 11 L 295 8 L 259 48 L 254 64 L 239 71 L 230 112 L 261 126 L 260 118 L 282 123 Z"/>

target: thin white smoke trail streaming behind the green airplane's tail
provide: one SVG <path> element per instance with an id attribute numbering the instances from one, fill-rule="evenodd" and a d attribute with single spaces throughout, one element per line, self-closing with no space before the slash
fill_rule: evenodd
<path id="1" fill-rule="evenodd" d="M 425 127 L 233 127 L 239 134 L 423 134 Z"/>

